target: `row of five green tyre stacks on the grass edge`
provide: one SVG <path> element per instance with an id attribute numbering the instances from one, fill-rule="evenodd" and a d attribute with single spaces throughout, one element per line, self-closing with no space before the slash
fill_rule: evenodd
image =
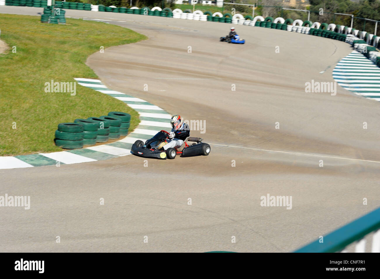
<path id="1" fill-rule="evenodd" d="M 65 149 L 92 146 L 97 142 L 127 136 L 131 116 L 125 112 L 109 112 L 100 117 L 78 118 L 73 123 L 60 123 L 55 131 L 55 145 Z"/>

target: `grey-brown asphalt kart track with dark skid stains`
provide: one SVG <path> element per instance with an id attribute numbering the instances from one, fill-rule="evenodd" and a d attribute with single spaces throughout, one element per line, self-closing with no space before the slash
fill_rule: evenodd
<path id="1" fill-rule="evenodd" d="M 148 36 L 93 54 L 87 65 L 111 89 L 206 121 L 206 132 L 192 136 L 211 143 L 211 153 L 149 159 L 148 167 L 131 155 L 0 170 L 0 195 L 31 196 L 30 210 L 1 209 L 0 251 L 290 252 L 378 207 L 378 102 L 341 87 L 336 96 L 305 93 L 312 79 L 334 82 L 332 69 L 351 52 L 347 43 L 237 25 L 246 44 L 234 45 L 218 41 L 228 24 L 66 15 L 111 20 Z M 260 206 L 267 194 L 291 195 L 292 209 Z"/>

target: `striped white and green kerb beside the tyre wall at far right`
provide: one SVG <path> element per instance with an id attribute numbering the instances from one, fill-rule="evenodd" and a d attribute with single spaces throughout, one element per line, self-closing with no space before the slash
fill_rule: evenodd
<path id="1" fill-rule="evenodd" d="M 380 68 L 360 52 L 354 50 L 340 60 L 332 77 L 356 95 L 380 101 Z"/>

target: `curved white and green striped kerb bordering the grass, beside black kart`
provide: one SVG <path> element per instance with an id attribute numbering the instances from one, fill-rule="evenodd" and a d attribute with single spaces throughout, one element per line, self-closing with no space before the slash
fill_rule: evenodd
<path id="1" fill-rule="evenodd" d="M 131 154 L 132 144 L 136 140 L 147 140 L 157 134 L 157 131 L 171 129 L 171 115 L 158 106 L 139 98 L 111 90 L 98 79 L 75 79 L 79 85 L 92 88 L 101 93 L 125 102 L 139 113 L 140 124 L 127 137 L 116 142 L 87 148 L 40 153 L 19 156 L 0 157 L 0 169 L 15 169 L 24 167 L 52 166 L 57 164 L 77 164 L 127 156 Z M 112 110 L 110 108 L 110 110 Z"/>

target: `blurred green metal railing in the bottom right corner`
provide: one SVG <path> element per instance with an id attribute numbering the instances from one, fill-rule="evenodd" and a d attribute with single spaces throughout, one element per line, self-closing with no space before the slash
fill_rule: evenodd
<path id="1" fill-rule="evenodd" d="M 348 244 L 361 240 L 370 232 L 380 229 L 380 208 L 344 225 L 323 237 L 294 251 L 295 253 L 332 253 L 342 251 Z M 375 239 L 376 238 L 376 239 Z M 372 252 L 380 251 L 380 233 L 374 235 Z"/>

